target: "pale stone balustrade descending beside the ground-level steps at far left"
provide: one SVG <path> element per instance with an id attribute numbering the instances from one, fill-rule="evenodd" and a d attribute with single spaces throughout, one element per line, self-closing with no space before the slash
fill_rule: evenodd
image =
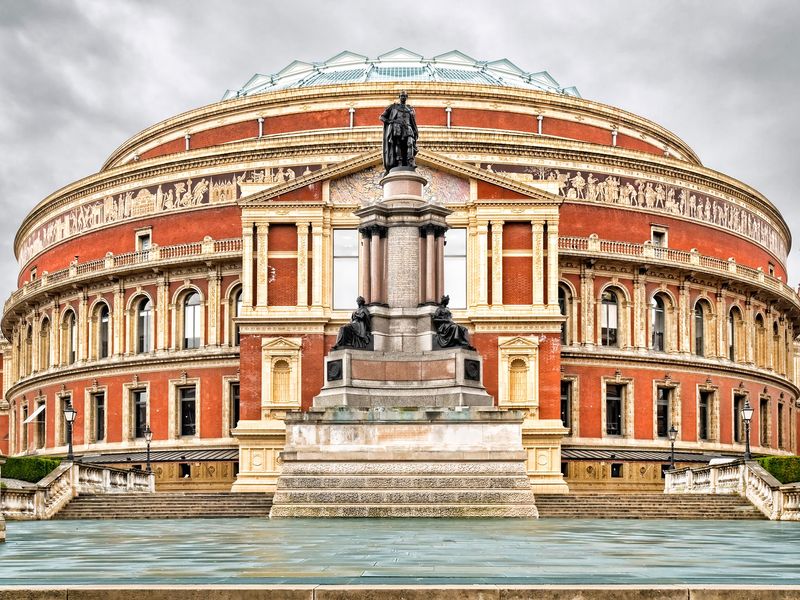
<path id="1" fill-rule="evenodd" d="M 35 487 L 2 490 L 0 513 L 9 520 L 17 521 L 50 519 L 81 494 L 154 491 L 153 473 L 64 462 Z"/>

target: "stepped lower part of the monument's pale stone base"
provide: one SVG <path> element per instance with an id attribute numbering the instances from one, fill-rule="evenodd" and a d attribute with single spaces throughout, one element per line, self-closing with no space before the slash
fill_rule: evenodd
<path id="1" fill-rule="evenodd" d="M 271 516 L 535 517 L 536 506 L 513 462 L 287 462 Z"/>

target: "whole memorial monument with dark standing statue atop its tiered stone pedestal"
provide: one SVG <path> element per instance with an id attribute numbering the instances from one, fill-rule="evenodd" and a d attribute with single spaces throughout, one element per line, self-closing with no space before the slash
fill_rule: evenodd
<path id="1" fill-rule="evenodd" d="M 384 111 L 382 200 L 355 214 L 361 296 L 307 411 L 286 416 L 271 517 L 536 517 L 524 412 L 494 406 L 444 289 L 450 211 L 423 199 L 413 108 Z"/>

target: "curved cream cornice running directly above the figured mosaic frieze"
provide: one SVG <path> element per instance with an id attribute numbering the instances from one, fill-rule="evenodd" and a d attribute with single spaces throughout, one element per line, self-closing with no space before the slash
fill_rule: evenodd
<path id="1" fill-rule="evenodd" d="M 455 156 L 475 157 L 475 162 L 492 161 L 497 157 L 518 157 L 537 161 L 574 162 L 585 168 L 586 163 L 600 168 L 628 169 L 664 178 L 673 178 L 704 186 L 718 193 L 727 194 L 756 208 L 769 218 L 784 236 L 787 246 L 791 244 L 791 233 L 780 212 L 757 190 L 727 175 L 683 161 L 658 157 L 644 152 L 623 150 L 598 144 L 574 142 L 535 134 L 482 131 L 473 129 L 423 128 L 426 152 L 446 156 L 454 162 L 467 162 Z M 234 166 L 247 168 L 247 163 L 275 160 L 281 157 L 296 157 L 306 162 L 330 162 L 331 156 L 345 161 L 380 148 L 380 128 L 358 128 L 357 130 L 323 130 L 313 134 L 275 136 L 261 140 L 249 140 L 170 154 L 136 163 L 129 163 L 91 175 L 69 184 L 42 200 L 24 219 L 14 240 L 15 253 L 22 239 L 32 226 L 51 211 L 71 202 L 114 187 L 135 184 L 145 178 L 182 176 L 191 169 L 223 170 Z M 323 160 L 327 159 L 327 160 Z M 471 161 L 470 161 L 471 162 Z M 293 183 L 297 183 L 294 180 Z M 133 187 L 133 186 L 131 186 Z"/>

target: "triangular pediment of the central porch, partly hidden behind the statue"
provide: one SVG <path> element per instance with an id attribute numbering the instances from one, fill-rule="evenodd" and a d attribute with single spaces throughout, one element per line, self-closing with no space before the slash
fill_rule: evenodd
<path id="1" fill-rule="evenodd" d="M 550 205 L 559 205 L 563 201 L 557 195 L 526 183 L 429 150 L 419 152 L 417 165 L 420 174 L 429 181 L 424 191 L 425 198 L 436 204 L 470 203 L 470 180 L 478 183 L 479 199 L 480 191 L 486 190 L 484 198 L 487 200 L 526 200 Z M 374 150 L 247 196 L 239 204 L 255 207 L 275 203 L 322 202 L 318 191 L 323 182 L 329 181 L 330 203 L 364 205 L 380 199 L 382 177 L 382 153 Z"/>

